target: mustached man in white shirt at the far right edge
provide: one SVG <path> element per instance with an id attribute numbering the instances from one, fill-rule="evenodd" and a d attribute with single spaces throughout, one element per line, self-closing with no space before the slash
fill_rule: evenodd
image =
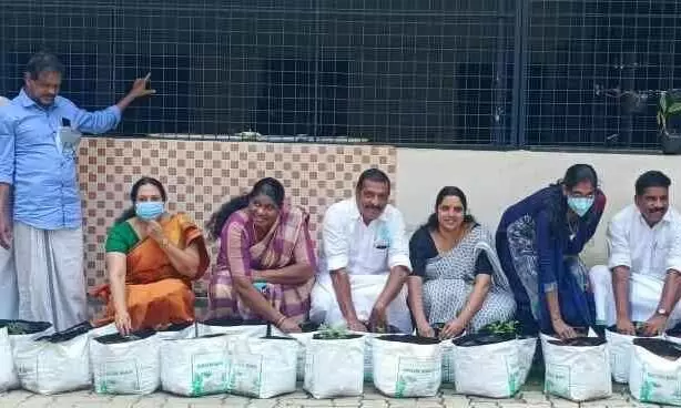
<path id="1" fill-rule="evenodd" d="M 643 173 L 634 204 L 610 221 L 608 266 L 589 273 L 597 323 L 633 335 L 632 322 L 643 322 L 657 335 L 681 319 L 681 216 L 669 207 L 670 185 L 662 172 Z"/>

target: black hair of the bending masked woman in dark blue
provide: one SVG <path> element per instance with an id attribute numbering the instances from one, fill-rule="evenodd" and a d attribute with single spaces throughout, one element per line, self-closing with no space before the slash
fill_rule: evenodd
<path id="1" fill-rule="evenodd" d="M 598 174 L 596 174 L 596 170 L 590 164 L 571 165 L 561 180 L 550 185 L 551 192 L 545 205 L 549 211 L 549 220 L 553 234 L 559 234 L 563 231 L 568 214 L 568 201 L 563 194 L 563 187 L 571 191 L 576 185 L 583 182 L 589 182 L 593 188 L 598 188 Z M 594 194 L 598 194 L 598 192 L 594 192 Z M 594 216 L 592 208 L 593 207 L 589 208 L 585 217 L 589 218 Z"/>

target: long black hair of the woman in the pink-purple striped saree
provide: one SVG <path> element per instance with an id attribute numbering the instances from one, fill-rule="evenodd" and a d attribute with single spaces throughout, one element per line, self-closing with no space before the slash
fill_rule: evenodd
<path id="1" fill-rule="evenodd" d="M 209 220 L 206 223 L 206 230 L 209 231 L 211 238 L 217 239 L 230 216 L 235 212 L 247 207 L 251 200 L 258 195 L 268 196 L 279 208 L 282 205 L 284 205 L 284 186 L 282 183 L 272 177 L 262 178 L 255 183 L 253 190 L 251 190 L 248 194 L 230 200 L 228 202 L 224 203 L 220 210 L 213 213 L 213 215 L 211 215 L 211 220 Z"/>

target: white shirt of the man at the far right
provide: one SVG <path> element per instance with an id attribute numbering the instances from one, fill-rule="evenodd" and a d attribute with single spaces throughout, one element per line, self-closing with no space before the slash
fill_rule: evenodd
<path id="1" fill-rule="evenodd" d="M 681 216 L 669 208 L 652 228 L 636 205 L 620 211 L 608 227 L 608 267 L 628 266 L 631 273 L 664 279 L 681 272 Z"/>

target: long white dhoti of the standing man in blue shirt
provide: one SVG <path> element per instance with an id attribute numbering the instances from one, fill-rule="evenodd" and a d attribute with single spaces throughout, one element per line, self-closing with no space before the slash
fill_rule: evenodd
<path id="1" fill-rule="evenodd" d="M 63 330 L 88 318 L 83 233 L 14 223 L 19 318 Z"/>

